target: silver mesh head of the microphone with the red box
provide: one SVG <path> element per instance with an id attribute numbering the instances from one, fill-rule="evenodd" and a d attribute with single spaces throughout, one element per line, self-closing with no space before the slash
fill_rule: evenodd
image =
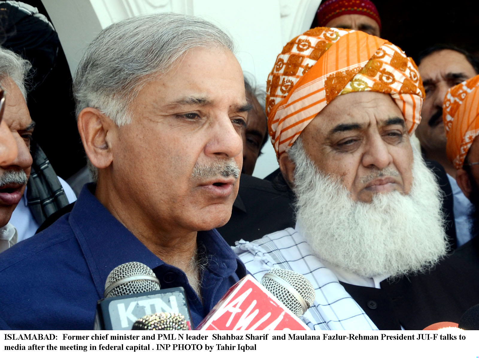
<path id="1" fill-rule="evenodd" d="M 261 284 L 291 312 L 301 317 L 314 302 L 313 285 L 303 275 L 286 269 L 271 269 Z"/>

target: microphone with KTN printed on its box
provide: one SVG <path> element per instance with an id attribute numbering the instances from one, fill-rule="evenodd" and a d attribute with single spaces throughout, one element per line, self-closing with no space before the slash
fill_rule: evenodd
<path id="1" fill-rule="evenodd" d="M 97 302 L 94 329 L 128 330 L 138 318 L 157 312 L 181 313 L 188 327 L 191 316 L 182 287 L 160 290 L 155 273 L 141 262 L 115 267 Z"/>

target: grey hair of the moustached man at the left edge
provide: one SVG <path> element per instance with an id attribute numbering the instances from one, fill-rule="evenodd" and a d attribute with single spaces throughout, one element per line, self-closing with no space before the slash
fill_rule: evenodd
<path id="1" fill-rule="evenodd" d="M 32 65 L 28 60 L 0 46 L 0 82 L 10 77 L 22 92 L 25 101 L 27 98 L 25 79 L 30 68 Z"/>

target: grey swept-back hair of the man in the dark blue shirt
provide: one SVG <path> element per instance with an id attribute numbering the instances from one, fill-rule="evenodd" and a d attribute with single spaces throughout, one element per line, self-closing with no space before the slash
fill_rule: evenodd
<path id="1" fill-rule="evenodd" d="M 198 17 L 160 13 L 116 22 L 98 34 L 73 82 L 76 115 L 93 107 L 117 125 L 131 122 L 130 104 L 152 75 L 161 76 L 195 47 L 234 52 L 227 34 Z"/>

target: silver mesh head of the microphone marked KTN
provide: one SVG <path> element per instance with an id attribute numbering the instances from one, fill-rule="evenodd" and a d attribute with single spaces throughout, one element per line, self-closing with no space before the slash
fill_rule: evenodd
<path id="1" fill-rule="evenodd" d="M 160 281 L 147 265 L 126 262 L 110 272 L 103 296 L 108 298 L 157 290 L 160 290 Z"/>

